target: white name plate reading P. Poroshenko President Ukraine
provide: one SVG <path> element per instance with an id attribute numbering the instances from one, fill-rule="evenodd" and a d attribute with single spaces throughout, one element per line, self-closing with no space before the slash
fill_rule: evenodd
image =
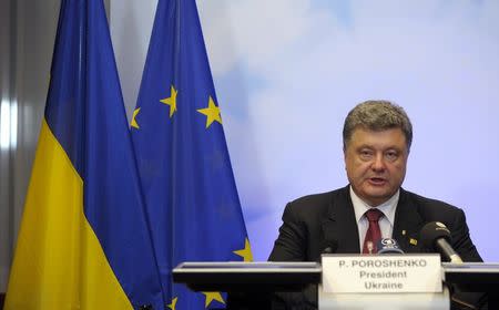
<path id="1" fill-rule="evenodd" d="M 438 254 L 323 255 L 325 292 L 441 292 L 441 282 Z"/>

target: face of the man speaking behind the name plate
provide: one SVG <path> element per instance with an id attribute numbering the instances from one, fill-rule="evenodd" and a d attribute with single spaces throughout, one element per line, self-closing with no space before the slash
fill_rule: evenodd
<path id="1" fill-rule="evenodd" d="M 409 155 L 400 128 L 379 132 L 356 128 L 344 155 L 355 194 L 370 206 L 385 203 L 400 188 Z"/>

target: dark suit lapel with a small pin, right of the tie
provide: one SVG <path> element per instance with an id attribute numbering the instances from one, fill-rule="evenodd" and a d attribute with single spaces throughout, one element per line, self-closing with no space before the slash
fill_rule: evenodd
<path id="1" fill-rule="evenodd" d="M 398 241 L 405 252 L 421 251 L 418 238 L 422 225 L 425 223 L 418 211 L 418 206 L 410 199 L 409 194 L 400 188 L 393 238 Z"/>

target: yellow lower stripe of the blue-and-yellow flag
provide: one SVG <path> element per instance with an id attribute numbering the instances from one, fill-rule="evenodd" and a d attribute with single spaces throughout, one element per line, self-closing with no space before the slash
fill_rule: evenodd
<path id="1" fill-rule="evenodd" d="M 132 309 L 83 214 L 83 182 L 43 120 L 4 309 Z"/>

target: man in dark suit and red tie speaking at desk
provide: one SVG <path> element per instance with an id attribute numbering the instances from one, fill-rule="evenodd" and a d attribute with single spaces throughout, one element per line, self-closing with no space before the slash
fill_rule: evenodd
<path id="1" fill-rule="evenodd" d="M 438 220 L 465 261 L 481 261 L 461 209 L 401 188 L 411 142 L 413 125 L 400 106 L 388 101 L 355 106 L 343 128 L 349 185 L 289 203 L 269 260 L 319 261 L 325 249 L 376 252 L 374 236 L 396 239 L 405 252 L 428 251 L 418 242 L 419 231 Z M 371 214 L 375 219 L 368 219 Z"/>

